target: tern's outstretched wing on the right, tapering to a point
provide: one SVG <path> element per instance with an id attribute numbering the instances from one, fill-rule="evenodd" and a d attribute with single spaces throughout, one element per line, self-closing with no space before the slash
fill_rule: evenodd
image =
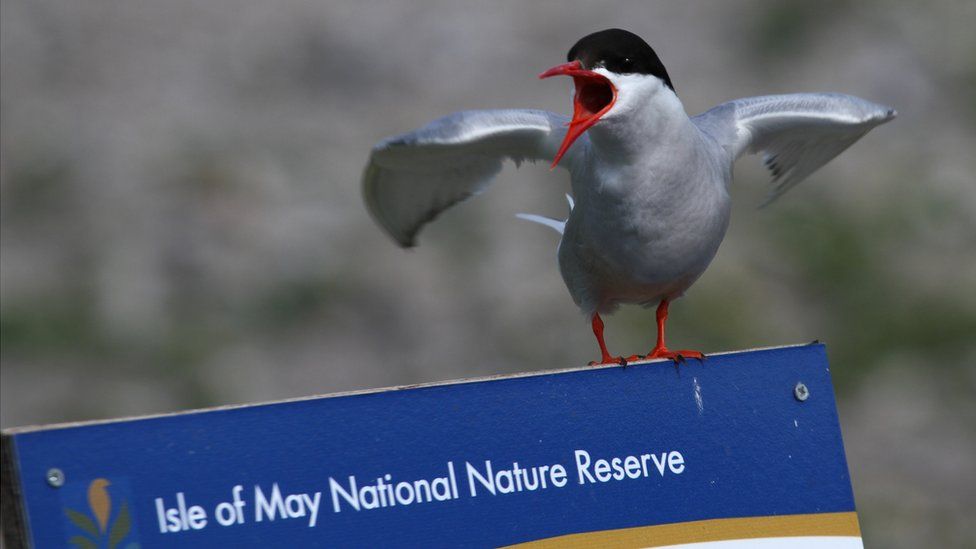
<path id="1" fill-rule="evenodd" d="M 736 99 L 692 120 L 733 158 L 762 155 L 773 176 L 766 205 L 895 115 L 851 95 L 797 93 Z"/>

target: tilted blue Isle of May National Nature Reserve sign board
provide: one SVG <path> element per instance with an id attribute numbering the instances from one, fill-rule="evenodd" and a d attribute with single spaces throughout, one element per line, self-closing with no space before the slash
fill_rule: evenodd
<path id="1" fill-rule="evenodd" d="M 3 489 L 8 547 L 861 547 L 819 344 L 10 429 Z"/>

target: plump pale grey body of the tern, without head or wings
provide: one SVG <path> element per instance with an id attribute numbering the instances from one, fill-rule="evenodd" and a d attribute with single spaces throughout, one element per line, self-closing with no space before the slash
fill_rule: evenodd
<path id="1" fill-rule="evenodd" d="M 677 298 L 705 271 L 728 227 L 731 160 L 673 93 L 659 94 L 651 101 L 665 104 L 658 112 L 666 117 L 594 126 L 569 167 L 578 206 L 559 267 L 587 317 Z"/>

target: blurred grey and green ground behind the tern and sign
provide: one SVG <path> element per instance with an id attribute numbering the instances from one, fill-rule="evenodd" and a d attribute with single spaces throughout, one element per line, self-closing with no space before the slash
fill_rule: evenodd
<path id="1" fill-rule="evenodd" d="M 580 366 L 568 181 L 508 167 L 398 249 L 360 175 L 452 111 L 568 113 L 577 38 L 645 37 L 689 113 L 836 91 L 898 109 L 729 234 L 672 307 L 706 352 L 828 345 L 865 538 L 976 546 L 976 3 L 2 0 L 0 424 Z M 615 353 L 651 311 L 607 321 Z"/>

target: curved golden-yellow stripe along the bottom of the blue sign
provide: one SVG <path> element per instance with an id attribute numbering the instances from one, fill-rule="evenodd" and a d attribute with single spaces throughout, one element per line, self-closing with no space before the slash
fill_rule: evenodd
<path id="1" fill-rule="evenodd" d="M 661 547 L 703 541 L 775 538 L 794 536 L 861 536 L 857 513 L 816 513 L 698 520 L 620 530 L 569 534 L 519 543 L 509 547 Z"/>

